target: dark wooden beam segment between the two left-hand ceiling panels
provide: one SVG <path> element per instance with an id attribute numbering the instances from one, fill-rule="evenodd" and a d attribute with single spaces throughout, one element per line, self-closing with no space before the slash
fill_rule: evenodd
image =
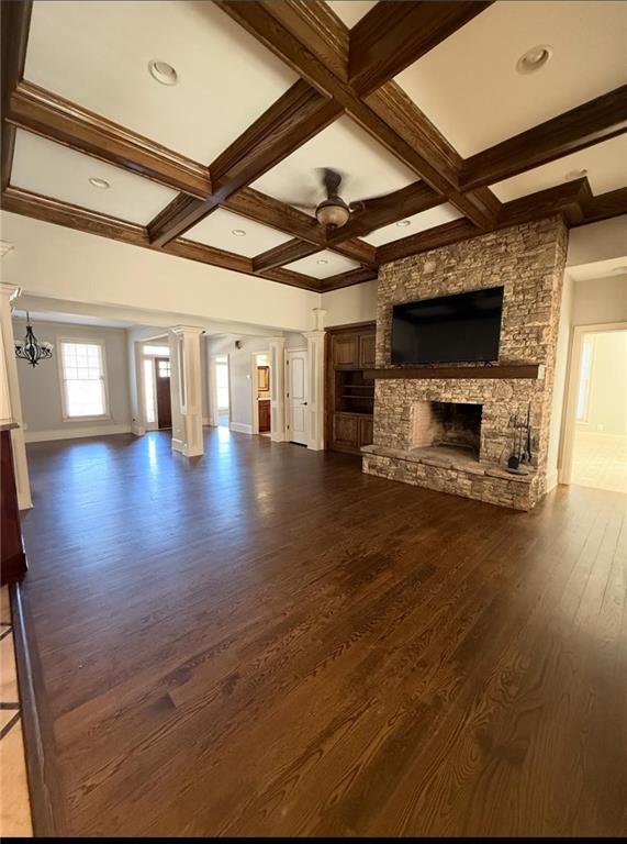
<path id="1" fill-rule="evenodd" d="M 79 153 L 194 197 L 211 193 L 206 166 L 131 132 L 56 93 L 22 81 L 12 93 L 8 120 Z"/>

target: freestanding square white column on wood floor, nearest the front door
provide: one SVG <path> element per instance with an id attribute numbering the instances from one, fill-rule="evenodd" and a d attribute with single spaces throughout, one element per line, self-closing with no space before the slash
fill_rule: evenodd
<path id="1" fill-rule="evenodd" d="M 169 331 L 172 448 L 186 457 L 204 454 L 202 440 L 201 335 L 203 329 Z"/>

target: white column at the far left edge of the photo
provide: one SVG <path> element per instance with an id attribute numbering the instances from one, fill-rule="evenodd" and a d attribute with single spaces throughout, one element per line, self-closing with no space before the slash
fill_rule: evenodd
<path id="1" fill-rule="evenodd" d="M 22 400 L 18 380 L 18 362 L 15 359 L 15 340 L 11 321 L 11 302 L 20 296 L 21 289 L 15 285 L 0 282 L 0 335 L 1 357 L 0 387 L 2 393 L 1 415 L 3 421 L 16 422 L 19 427 L 11 431 L 11 447 L 13 451 L 13 467 L 15 487 L 18 489 L 18 506 L 20 510 L 33 507 L 31 484 L 29 480 L 29 464 L 26 463 L 26 446 L 24 444 L 24 427 L 22 419 Z"/>

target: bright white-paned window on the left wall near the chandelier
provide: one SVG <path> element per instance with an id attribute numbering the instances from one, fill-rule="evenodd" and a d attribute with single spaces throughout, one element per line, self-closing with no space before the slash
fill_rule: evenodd
<path id="1" fill-rule="evenodd" d="M 105 417 L 103 346 L 100 343 L 61 340 L 60 352 L 65 418 Z"/>

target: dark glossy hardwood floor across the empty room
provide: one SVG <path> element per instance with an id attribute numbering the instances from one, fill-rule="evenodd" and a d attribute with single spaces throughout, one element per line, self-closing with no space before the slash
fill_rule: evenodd
<path id="1" fill-rule="evenodd" d="M 59 835 L 619 835 L 625 497 L 515 513 L 213 430 L 29 446 Z"/>

